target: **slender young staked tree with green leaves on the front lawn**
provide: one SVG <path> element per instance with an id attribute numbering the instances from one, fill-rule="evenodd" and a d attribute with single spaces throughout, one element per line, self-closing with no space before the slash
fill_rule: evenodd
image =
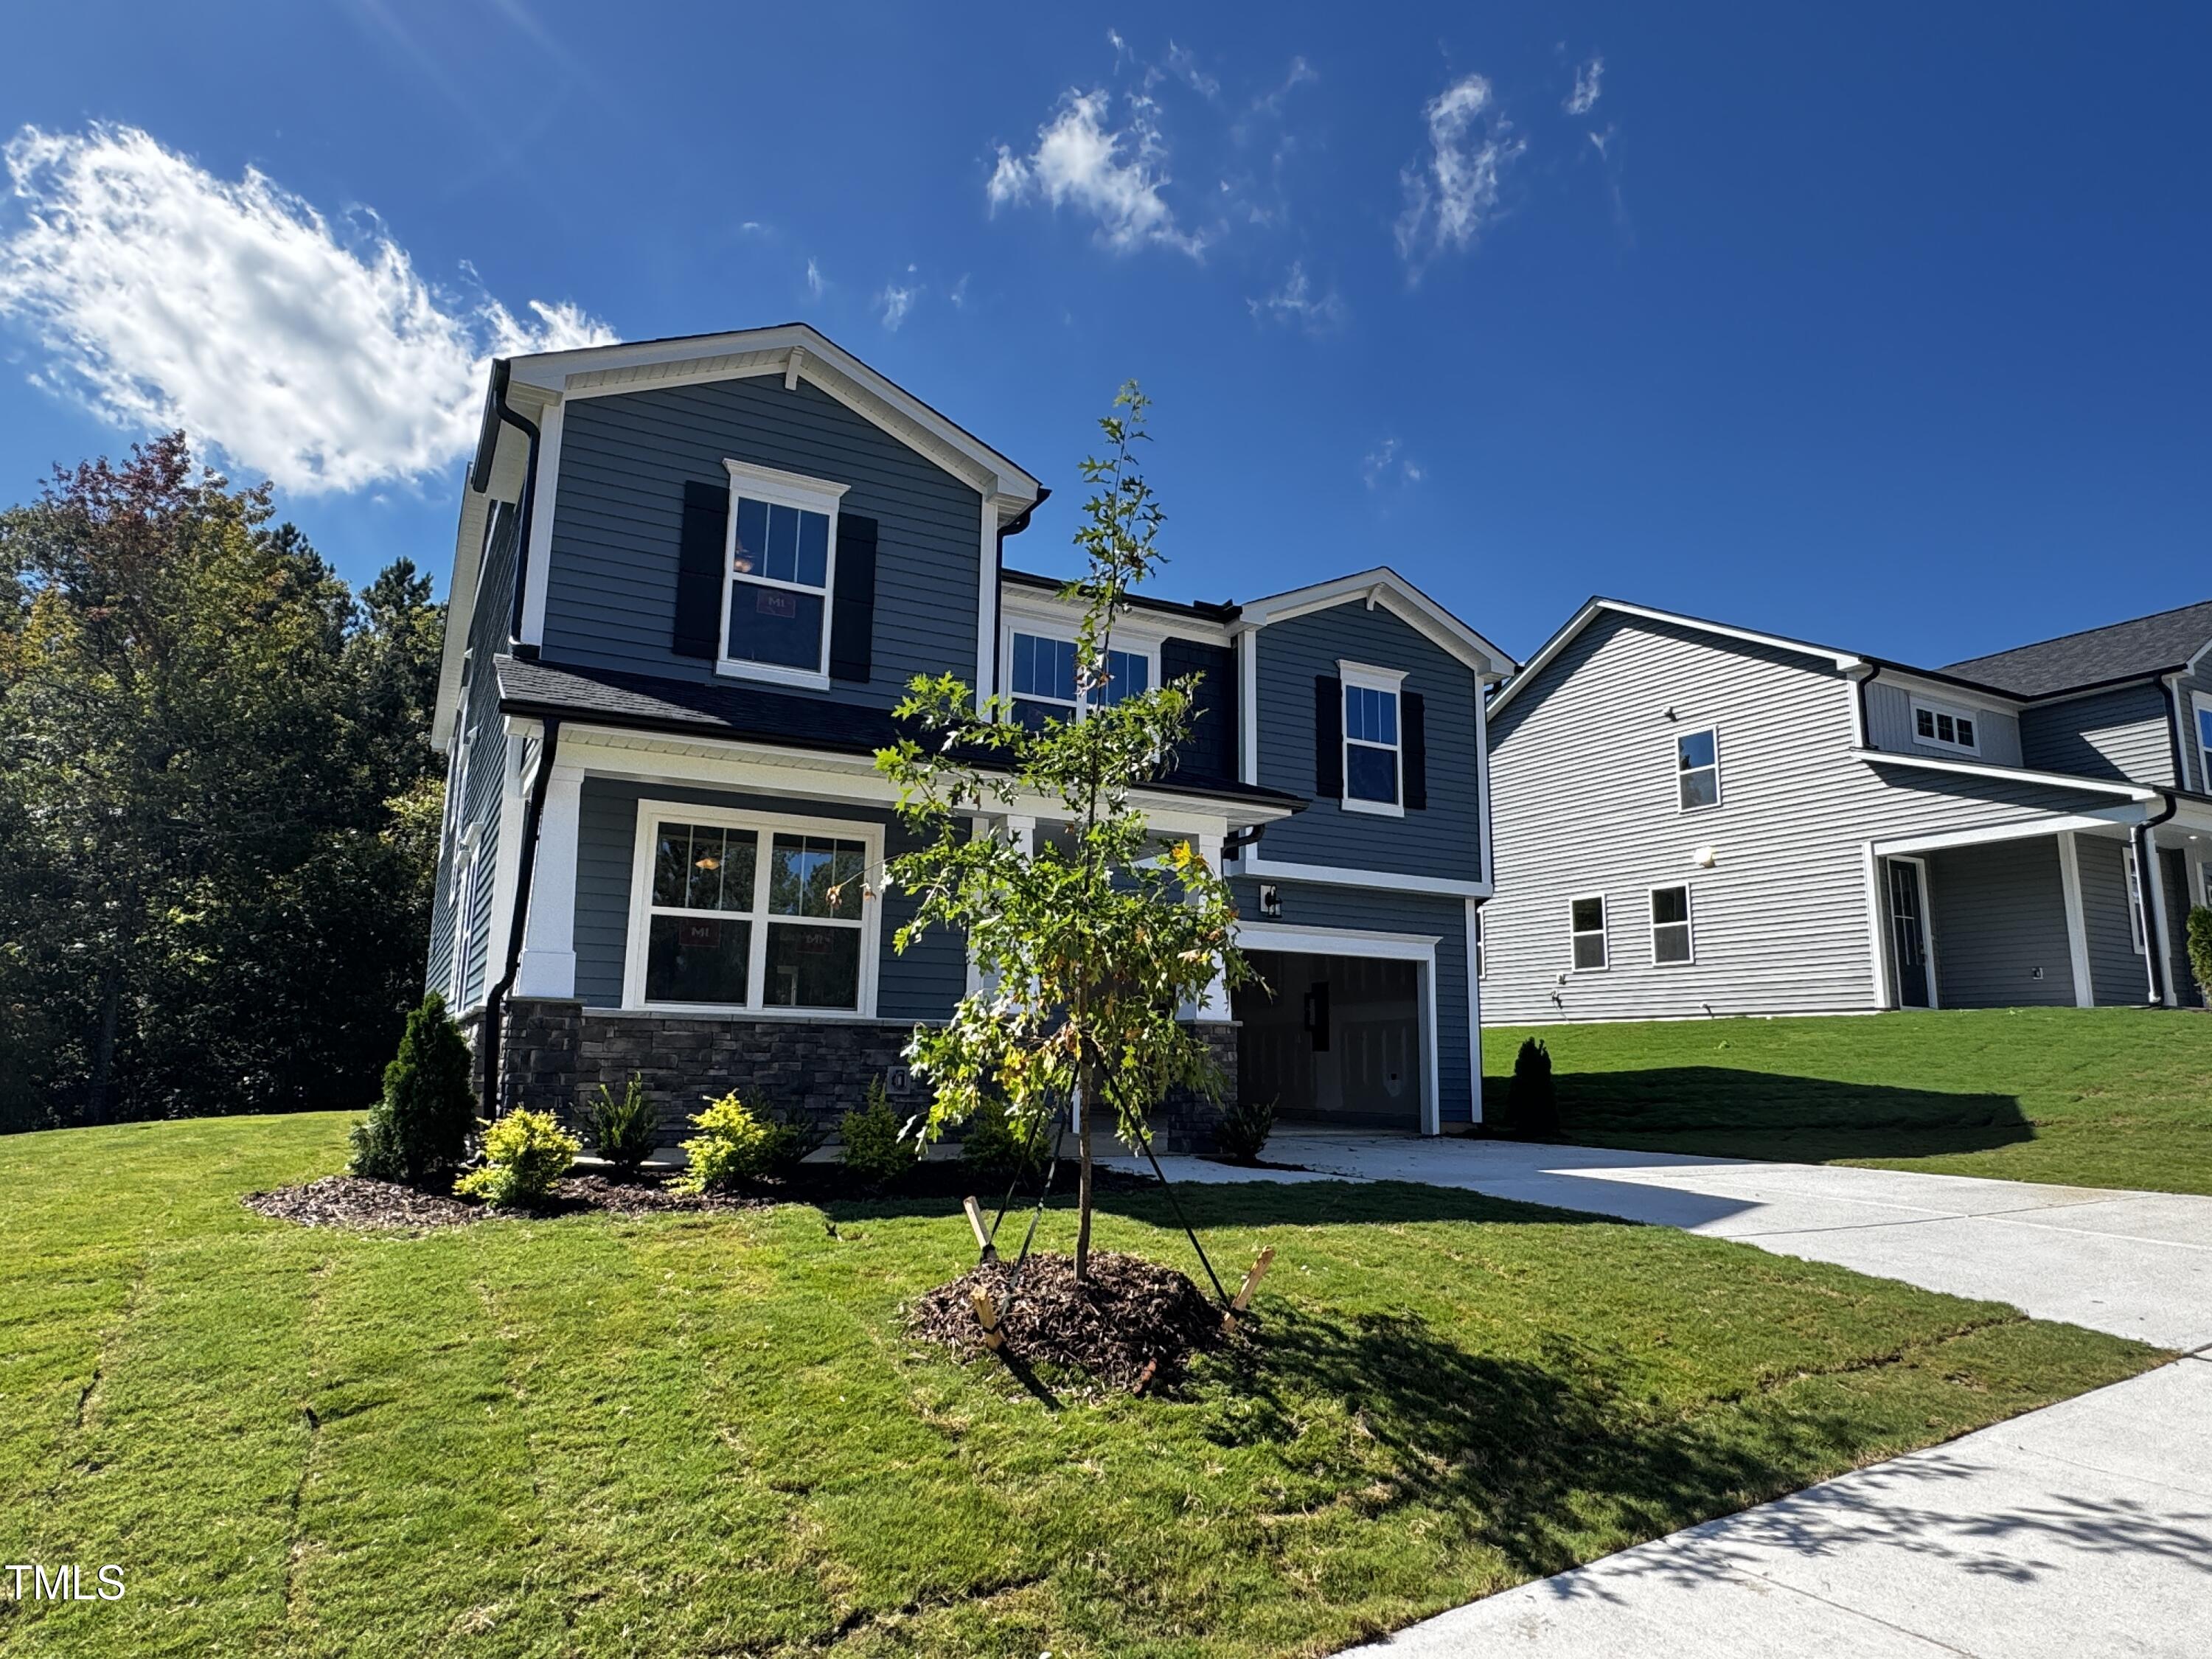
<path id="1" fill-rule="evenodd" d="M 1133 796 L 1172 765 L 1197 675 L 1144 692 L 1108 677 L 1128 593 L 1159 568 L 1159 502 L 1135 460 L 1146 396 L 1130 380 L 1099 420 L 1106 456 L 1084 460 L 1088 573 L 1062 588 L 1084 606 L 1075 635 L 1079 714 L 1031 723 L 1013 699 L 980 706 L 958 675 L 918 677 L 898 714 L 920 737 L 878 750 L 898 812 L 925 838 L 885 883 L 916 896 L 900 951 L 931 927 L 967 933 L 982 989 L 907 1060 L 933 1091 L 927 1135 L 1002 1097 L 1020 1133 L 1073 1104 L 1079 1148 L 1075 1276 L 1091 1272 L 1091 1117 L 1130 1144 L 1170 1088 L 1219 1095 L 1221 1075 L 1177 1009 L 1217 980 L 1248 978 L 1228 883 L 1188 841 L 1166 841 Z M 1035 845 L 991 814 L 1042 818 Z"/>

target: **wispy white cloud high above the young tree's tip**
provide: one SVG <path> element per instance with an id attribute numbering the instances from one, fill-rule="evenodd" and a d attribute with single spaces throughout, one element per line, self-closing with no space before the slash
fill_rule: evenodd
<path id="1" fill-rule="evenodd" d="M 1108 131 L 1110 102 L 1104 91 L 1068 93 L 1060 113 L 1037 128 L 1037 148 L 1026 157 L 1004 144 L 984 195 L 991 208 L 1042 199 L 1051 208 L 1073 206 L 1097 219 L 1097 237 L 1115 252 L 1148 243 L 1175 248 L 1197 259 L 1206 237 L 1175 223 L 1161 197 L 1168 177 L 1159 170 L 1168 148 L 1152 119 L 1152 102 L 1130 100 L 1128 126 Z"/>

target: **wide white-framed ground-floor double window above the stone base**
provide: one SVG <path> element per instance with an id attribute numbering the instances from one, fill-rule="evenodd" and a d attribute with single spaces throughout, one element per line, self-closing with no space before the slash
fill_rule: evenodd
<path id="1" fill-rule="evenodd" d="M 869 1013 L 880 832 L 672 805 L 639 834 L 626 1002 Z"/>

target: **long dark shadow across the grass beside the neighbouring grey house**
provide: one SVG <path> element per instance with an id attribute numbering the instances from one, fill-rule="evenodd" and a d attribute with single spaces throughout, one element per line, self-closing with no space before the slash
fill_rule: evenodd
<path id="1" fill-rule="evenodd" d="M 1506 1102 L 1509 1077 L 1484 1079 Z M 1838 1084 L 1730 1066 L 1562 1071 L 1562 1139 L 1650 1152 L 1823 1164 L 1845 1157 L 1984 1152 L 2035 1139 L 2013 1095 Z"/>

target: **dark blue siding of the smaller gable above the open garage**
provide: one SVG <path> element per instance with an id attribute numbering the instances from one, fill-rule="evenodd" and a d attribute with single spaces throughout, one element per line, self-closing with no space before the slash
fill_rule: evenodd
<path id="1" fill-rule="evenodd" d="M 1294 818 L 1267 825 L 1259 847 L 1274 863 L 1345 865 L 1398 876 L 1482 878 L 1482 790 L 1475 737 L 1480 686 L 1467 664 L 1385 606 L 1365 599 L 1270 622 L 1259 648 L 1259 783 L 1314 794 L 1314 679 L 1334 677 L 1338 659 L 1405 670 L 1405 690 L 1422 699 L 1427 728 L 1427 810 L 1402 818 L 1345 812 L 1314 799 Z"/>

